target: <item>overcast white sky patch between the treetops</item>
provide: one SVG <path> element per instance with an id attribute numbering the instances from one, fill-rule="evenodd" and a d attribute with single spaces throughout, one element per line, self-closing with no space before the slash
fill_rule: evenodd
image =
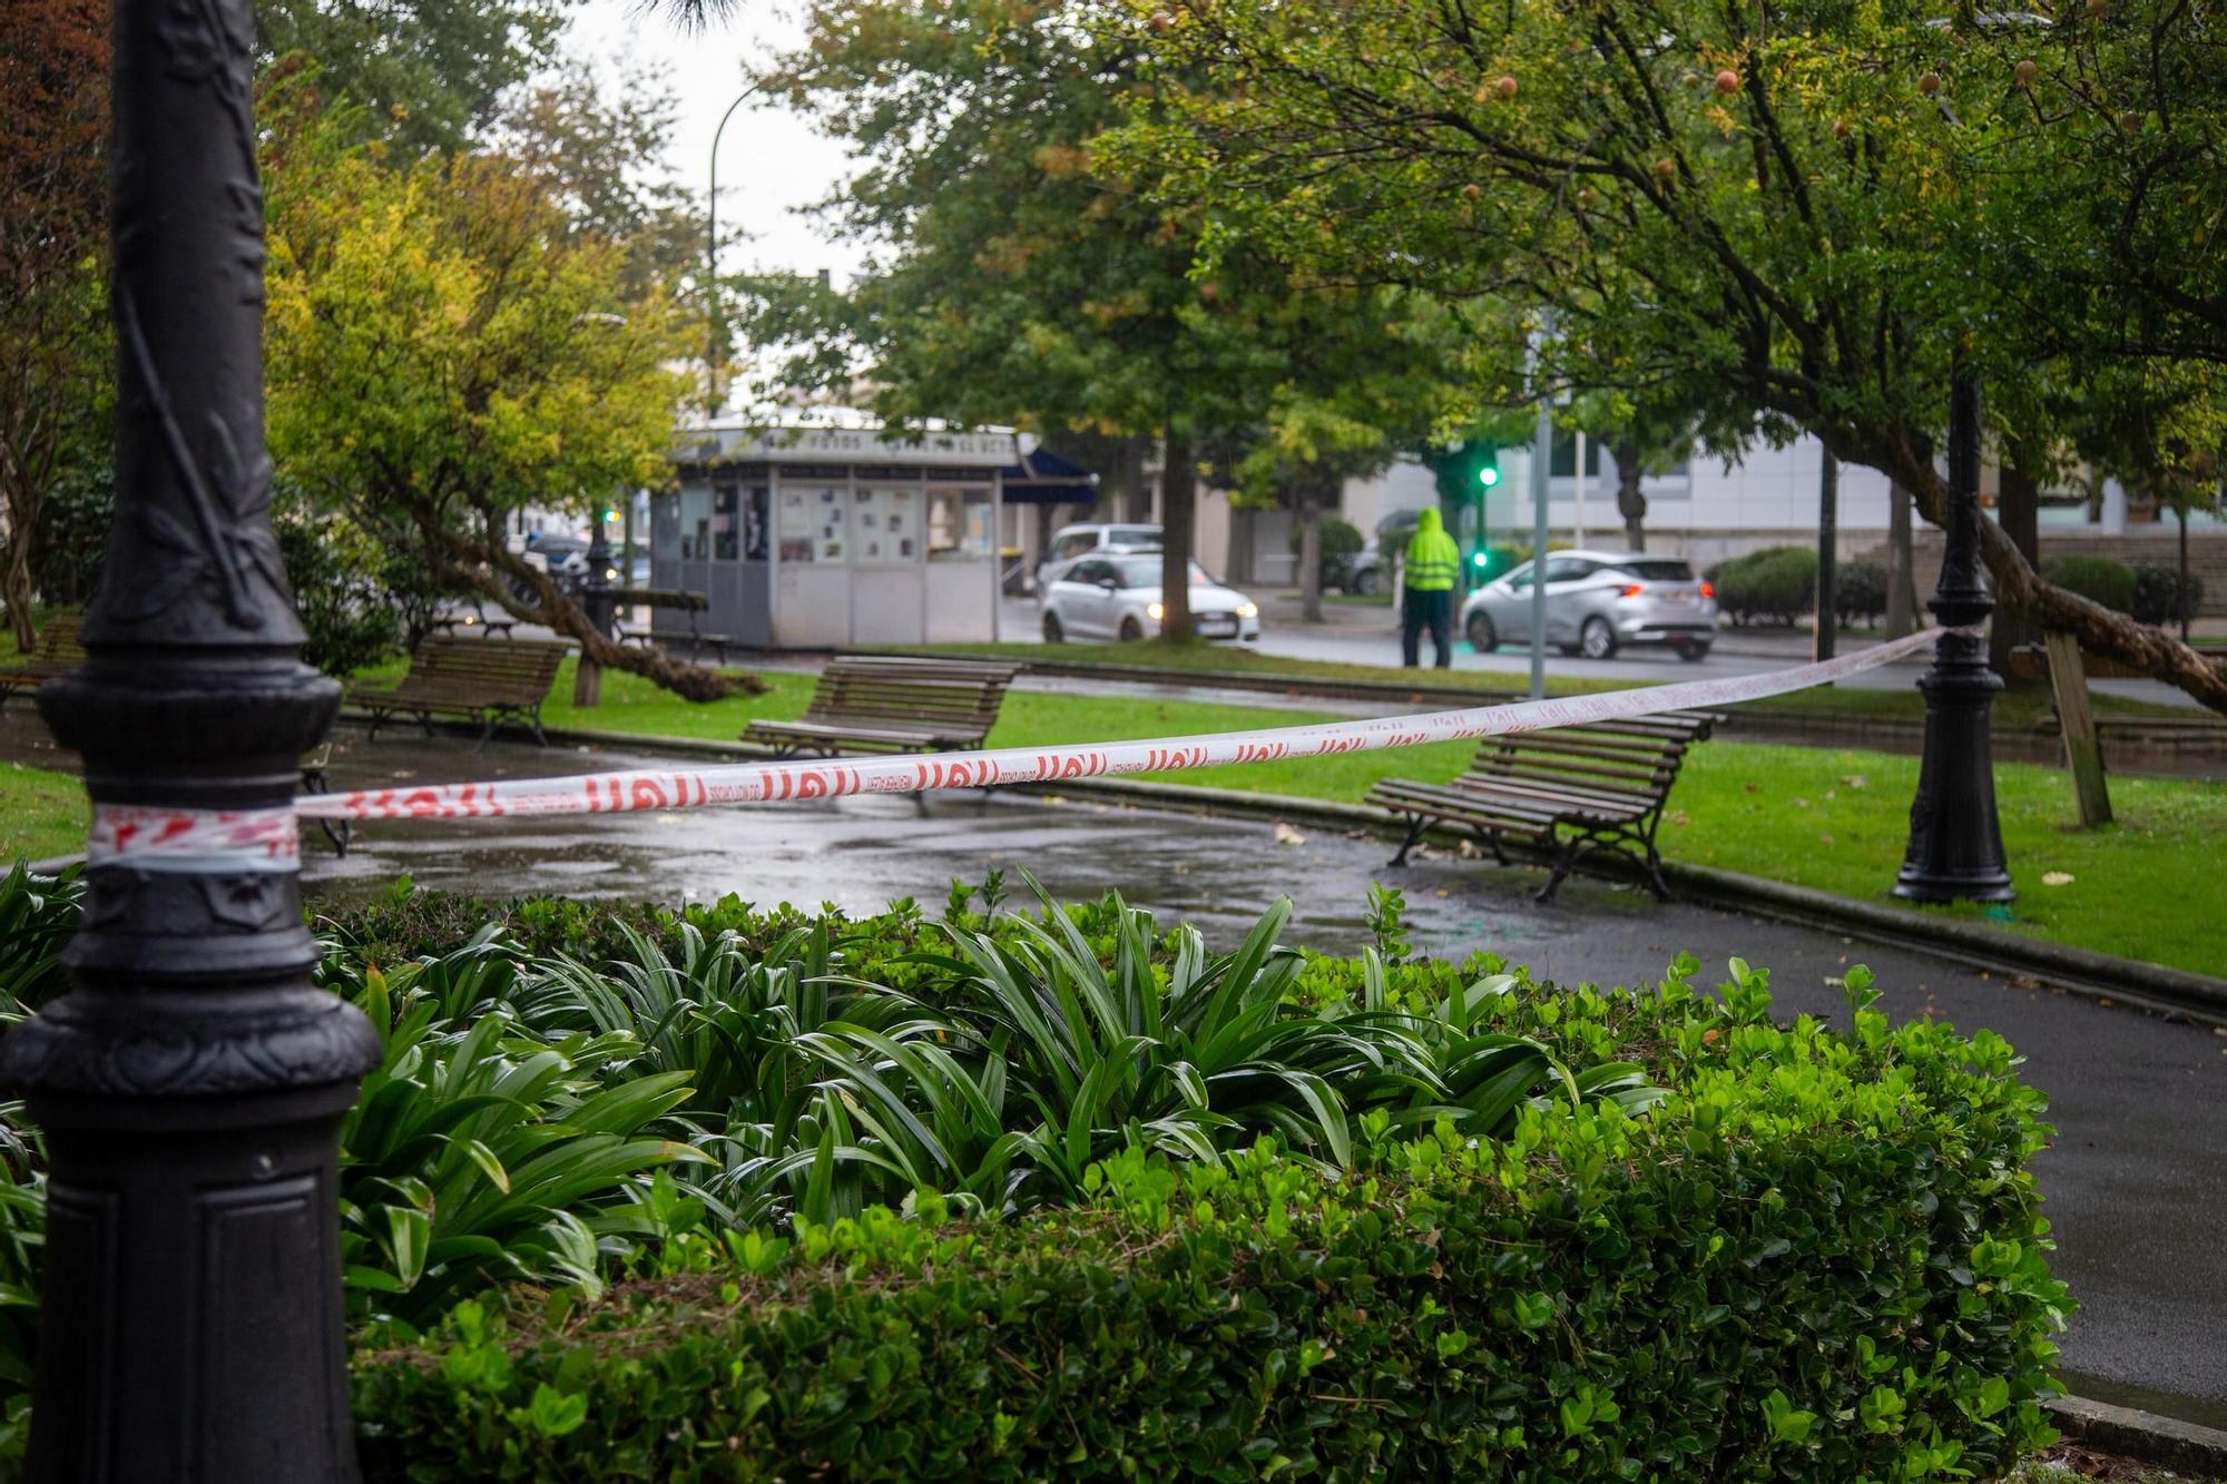
<path id="1" fill-rule="evenodd" d="M 702 198 L 710 174 L 713 129 L 744 87 L 744 60 L 759 62 L 797 36 L 802 27 L 793 7 L 768 0 L 742 0 L 726 20 L 695 33 L 641 16 L 630 0 L 586 0 L 572 13 L 568 51 L 599 62 L 630 56 L 635 62 L 666 67 L 681 102 L 673 169 Z M 795 207 L 817 201 L 846 174 L 842 147 L 788 109 L 759 107 L 755 98 L 735 109 L 719 140 L 719 236 L 733 243 L 733 230 L 742 227 L 750 241 L 733 243 L 724 267 L 828 267 L 835 283 L 844 283 L 857 270 L 857 250 L 822 238 Z"/>

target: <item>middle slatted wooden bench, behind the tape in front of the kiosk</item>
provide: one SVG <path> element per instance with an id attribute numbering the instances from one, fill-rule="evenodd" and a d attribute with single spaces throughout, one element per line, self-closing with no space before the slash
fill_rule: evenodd
<path id="1" fill-rule="evenodd" d="M 831 660 L 799 720 L 750 722 L 742 740 L 777 758 L 982 746 L 1018 671 L 989 660 Z"/>

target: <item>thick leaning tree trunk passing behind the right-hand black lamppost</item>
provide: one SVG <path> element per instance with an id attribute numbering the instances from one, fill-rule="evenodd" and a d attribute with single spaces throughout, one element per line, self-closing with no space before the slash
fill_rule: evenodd
<path id="1" fill-rule="evenodd" d="M 1944 524 L 1949 486 L 1933 468 L 1933 448 L 1922 435 L 1897 428 L 1880 446 L 1851 446 L 1842 457 L 1862 457 L 1888 479 L 1904 481 L 1920 515 L 1935 526 Z M 2080 648 L 2138 668 L 2227 715 L 2227 664 L 2214 664 L 2162 628 L 2136 624 L 2125 613 L 2042 582 L 1995 521 L 1980 521 L 1980 555 L 1995 579 L 1998 613 L 2009 611 L 2047 633 L 2069 633 L 2080 640 Z"/>

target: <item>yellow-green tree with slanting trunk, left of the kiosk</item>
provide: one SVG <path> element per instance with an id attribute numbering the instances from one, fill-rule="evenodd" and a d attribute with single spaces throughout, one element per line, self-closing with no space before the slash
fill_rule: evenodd
<path id="1" fill-rule="evenodd" d="M 661 484 L 679 379 L 670 299 L 572 230 L 508 156 L 392 163 L 345 118 L 278 120 L 269 183 L 269 439 L 278 470 L 367 530 L 403 530 L 452 590 L 686 695 L 724 677 L 621 648 L 508 550 L 526 506 L 581 517 Z M 514 588 L 530 593 L 519 599 Z"/>

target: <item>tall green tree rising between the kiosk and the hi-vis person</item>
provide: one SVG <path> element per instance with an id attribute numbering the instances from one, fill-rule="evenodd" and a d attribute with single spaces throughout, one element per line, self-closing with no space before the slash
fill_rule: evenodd
<path id="1" fill-rule="evenodd" d="M 853 145 L 824 209 L 873 261 L 848 296 L 755 285 L 755 330 L 795 348 L 782 379 L 864 374 L 897 421 L 1158 435 L 1180 573 L 1196 461 L 1256 497 L 1381 466 L 1430 432 L 1459 348 L 1412 296 L 1316 292 L 1265 254 L 1198 272 L 1200 214 L 1100 158 L 1147 87 L 1107 20 L 1087 0 L 813 7 L 773 80 Z"/>

